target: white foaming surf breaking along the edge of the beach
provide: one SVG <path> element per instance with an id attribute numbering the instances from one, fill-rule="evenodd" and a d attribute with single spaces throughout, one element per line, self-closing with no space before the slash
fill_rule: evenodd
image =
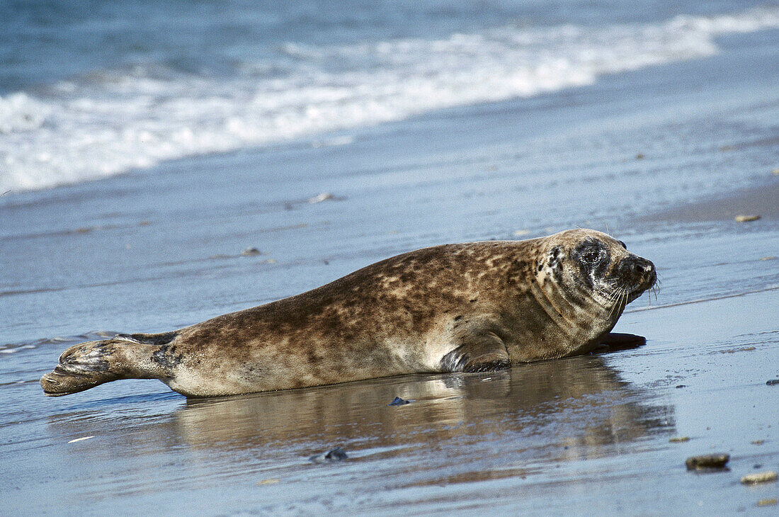
<path id="1" fill-rule="evenodd" d="M 720 34 L 777 26 L 779 8 L 766 7 L 647 25 L 502 26 L 348 47 L 289 43 L 280 57 L 293 64 L 272 78 L 259 62 L 243 63 L 245 74 L 231 79 L 140 68 L 92 74 L 46 93 L 0 97 L 0 191 L 587 85 L 607 73 L 712 55 Z"/>

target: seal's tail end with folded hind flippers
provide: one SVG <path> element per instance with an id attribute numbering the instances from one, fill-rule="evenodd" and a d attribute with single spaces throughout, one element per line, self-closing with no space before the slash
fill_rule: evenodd
<path id="1" fill-rule="evenodd" d="M 44 395 L 70 395 L 122 378 L 163 378 L 166 371 L 153 360 L 161 347 L 158 340 L 144 343 L 135 336 L 71 346 L 59 357 L 54 371 L 41 377 Z"/>

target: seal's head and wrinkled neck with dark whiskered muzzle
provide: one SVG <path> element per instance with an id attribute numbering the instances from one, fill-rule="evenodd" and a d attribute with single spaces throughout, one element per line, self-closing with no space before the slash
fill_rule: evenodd
<path id="1" fill-rule="evenodd" d="M 600 343 L 626 304 L 657 281 L 652 262 L 599 231 L 566 230 L 539 244 L 535 280 L 566 355 Z"/>

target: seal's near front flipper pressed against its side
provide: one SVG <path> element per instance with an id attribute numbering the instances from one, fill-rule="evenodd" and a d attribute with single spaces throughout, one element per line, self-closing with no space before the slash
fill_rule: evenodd
<path id="1" fill-rule="evenodd" d="M 474 332 L 441 359 L 443 371 L 492 371 L 510 366 L 506 343 L 495 332 Z"/>

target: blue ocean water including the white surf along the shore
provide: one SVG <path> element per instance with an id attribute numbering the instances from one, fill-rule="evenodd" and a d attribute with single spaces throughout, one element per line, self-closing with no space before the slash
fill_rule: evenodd
<path id="1" fill-rule="evenodd" d="M 763 2 L 4 2 L 0 191 L 591 85 L 779 26 Z M 139 21 L 140 20 L 140 21 Z"/>

